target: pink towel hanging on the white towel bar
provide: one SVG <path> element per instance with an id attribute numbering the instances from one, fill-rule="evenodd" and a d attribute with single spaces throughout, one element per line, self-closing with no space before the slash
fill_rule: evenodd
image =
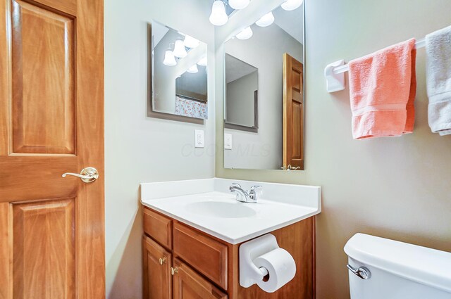
<path id="1" fill-rule="evenodd" d="M 414 131 L 415 58 L 415 39 L 409 39 L 350 61 L 354 139 Z"/>

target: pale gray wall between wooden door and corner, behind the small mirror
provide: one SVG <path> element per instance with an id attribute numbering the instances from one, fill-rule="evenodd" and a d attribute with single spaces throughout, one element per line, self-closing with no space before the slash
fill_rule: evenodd
<path id="1" fill-rule="evenodd" d="M 107 298 L 142 298 L 140 182 L 214 176 L 214 101 L 204 125 L 147 117 L 147 23 L 154 18 L 206 42 L 214 61 L 209 9 L 204 0 L 105 1 Z M 194 129 L 205 130 L 205 148 L 194 150 Z"/>

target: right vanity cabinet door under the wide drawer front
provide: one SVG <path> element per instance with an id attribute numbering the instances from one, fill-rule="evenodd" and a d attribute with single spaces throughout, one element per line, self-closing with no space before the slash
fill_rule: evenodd
<path id="1" fill-rule="evenodd" d="M 227 299 L 216 286 L 178 259 L 173 263 L 174 299 Z"/>

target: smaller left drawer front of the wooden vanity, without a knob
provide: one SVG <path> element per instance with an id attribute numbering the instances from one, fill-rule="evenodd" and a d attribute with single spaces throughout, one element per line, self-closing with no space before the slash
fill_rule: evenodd
<path id="1" fill-rule="evenodd" d="M 166 248 L 172 248 L 172 220 L 144 208 L 144 233 Z"/>

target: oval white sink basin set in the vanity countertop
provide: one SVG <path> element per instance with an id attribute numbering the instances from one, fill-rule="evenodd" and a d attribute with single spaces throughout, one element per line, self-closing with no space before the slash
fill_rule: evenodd
<path id="1" fill-rule="evenodd" d="M 252 203 L 248 203 L 247 205 L 252 205 Z M 199 201 L 197 203 L 188 203 L 185 205 L 185 209 L 194 214 L 215 218 L 243 218 L 256 215 L 257 212 L 247 205 L 238 201 L 231 203 L 225 203 L 223 201 Z"/>

